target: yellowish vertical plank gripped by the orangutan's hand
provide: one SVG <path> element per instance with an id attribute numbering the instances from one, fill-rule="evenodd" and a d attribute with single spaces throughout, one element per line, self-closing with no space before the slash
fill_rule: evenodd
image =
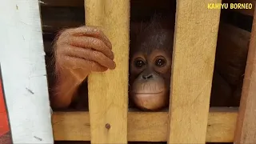
<path id="1" fill-rule="evenodd" d="M 127 143 L 130 1 L 86 0 L 85 7 L 86 25 L 102 29 L 116 62 L 88 78 L 91 143 Z"/>

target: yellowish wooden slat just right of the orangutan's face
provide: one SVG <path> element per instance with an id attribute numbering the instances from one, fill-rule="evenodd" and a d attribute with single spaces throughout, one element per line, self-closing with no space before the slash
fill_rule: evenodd
<path id="1" fill-rule="evenodd" d="M 205 143 L 220 0 L 178 0 L 168 143 Z"/>

